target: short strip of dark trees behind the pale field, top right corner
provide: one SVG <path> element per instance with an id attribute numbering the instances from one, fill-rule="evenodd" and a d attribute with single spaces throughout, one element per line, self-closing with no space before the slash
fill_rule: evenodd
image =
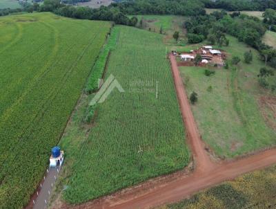
<path id="1" fill-rule="evenodd" d="M 228 11 L 251 10 L 264 11 L 276 9 L 275 0 L 201 0 L 206 8 L 220 8 Z"/>

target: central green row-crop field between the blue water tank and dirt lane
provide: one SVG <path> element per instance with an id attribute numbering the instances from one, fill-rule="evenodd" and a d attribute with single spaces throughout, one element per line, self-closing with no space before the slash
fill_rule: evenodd
<path id="1" fill-rule="evenodd" d="M 114 75 L 125 92 L 115 89 L 97 104 L 90 134 L 85 130 L 89 125 L 81 122 L 83 107 L 72 117 L 60 143 L 68 153 L 76 153 L 63 168 L 67 178 L 61 189 L 66 185 L 63 199 L 68 203 L 95 199 L 179 170 L 189 162 L 162 36 L 126 26 L 116 26 L 112 34 L 117 35 L 117 44 L 106 78 Z M 78 132 L 82 134 L 75 138 Z"/>

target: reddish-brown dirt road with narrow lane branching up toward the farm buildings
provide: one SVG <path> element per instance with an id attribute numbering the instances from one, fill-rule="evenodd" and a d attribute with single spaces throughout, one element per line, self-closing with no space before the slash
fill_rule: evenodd
<path id="1" fill-rule="evenodd" d="M 169 178 L 166 182 L 153 181 L 150 189 L 145 189 L 146 187 L 141 184 L 141 186 L 130 188 L 127 192 L 117 192 L 109 197 L 79 206 L 63 205 L 61 208 L 152 208 L 164 203 L 180 201 L 204 188 L 276 163 L 276 149 L 269 149 L 233 162 L 215 163 L 211 161 L 199 136 L 184 84 L 179 75 L 177 62 L 172 55 L 170 55 L 170 64 L 179 107 L 188 134 L 188 143 L 193 151 L 195 171 L 176 179 Z"/>

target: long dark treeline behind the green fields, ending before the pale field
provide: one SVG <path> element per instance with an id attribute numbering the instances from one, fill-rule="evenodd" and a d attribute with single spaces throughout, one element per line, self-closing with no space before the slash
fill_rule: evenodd
<path id="1" fill-rule="evenodd" d="M 111 3 L 110 6 L 101 6 L 92 9 L 88 7 L 66 6 L 59 0 L 45 0 L 43 4 L 34 3 L 21 10 L 0 10 L 0 15 L 9 15 L 13 12 L 54 12 L 64 17 L 77 19 L 93 19 L 114 21 L 116 24 L 135 26 L 136 18 L 128 15 L 205 15 L 204 3 L 201 0 L 136 0 Z"/>

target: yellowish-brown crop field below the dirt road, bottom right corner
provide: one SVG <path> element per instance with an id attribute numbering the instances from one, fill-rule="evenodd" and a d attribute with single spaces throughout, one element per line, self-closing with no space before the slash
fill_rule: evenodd
<path id="1" fill-rule="evenodd" d="M 252 172 L 159 209 L 276 208 L 276 167 Z"/>

